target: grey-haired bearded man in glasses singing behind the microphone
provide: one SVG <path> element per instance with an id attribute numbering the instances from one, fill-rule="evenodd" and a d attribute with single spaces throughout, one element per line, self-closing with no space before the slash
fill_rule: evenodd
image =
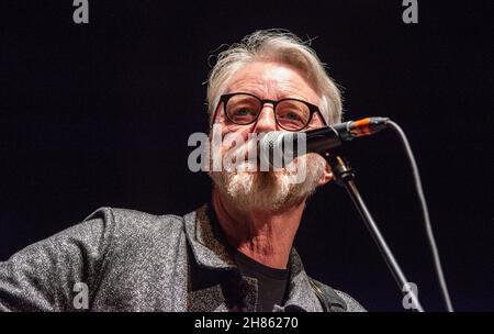
<path id="1" fill-rule="evenodd" d="M 247 142 L 252 133 L 333 124 L 341 114 L 315 53 L 278 31 L 223 52 L 207 100 L 212 129 Z M 224 142 L 220 149 L 238 147 Z M 319 155 L 292 164 L 304 168 L 300 182 L 288 168 L 210 171 L 211 202 L 184 216 L 100 209 L 0 263 L 0 310 L 363 311 L 311 279 L 292 247 L 307 197 L 332 179 Z"/>

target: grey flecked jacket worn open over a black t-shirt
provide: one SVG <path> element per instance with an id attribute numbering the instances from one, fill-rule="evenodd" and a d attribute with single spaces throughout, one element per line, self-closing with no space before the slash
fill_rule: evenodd
<path id="1" fill-rule="evenodd" d="M 238 274 L 211 211 L 99 209 L 0 261 L 0 310 L 254 311 L 256 280 Z M 294 249 L 289 280 L 287 302 L 273 311 L 364 311 L 310 279 Z"/>

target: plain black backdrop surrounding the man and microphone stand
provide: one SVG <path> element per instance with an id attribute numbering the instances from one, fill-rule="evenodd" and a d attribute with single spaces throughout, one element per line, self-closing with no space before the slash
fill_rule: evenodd
<path id="1" fill-rule="evenodd" d="M 453 304 L 494 310 L 491 1 L 89 1 L 0 7 L 0 260 L 110 205 L 190 212 L 211 181 L 187 167 L 206 131 L 214 51 L 284 27 L 344 87 L 345 118 L 386 115 L 414 148 Z M 383 132 L 344 148 L 390 247 L 426 310 L 444 310 L 411 170 Z M 371 311 L 401 292 L 343 189 L 312 198 L 295 246 L 310 275 Z"/>

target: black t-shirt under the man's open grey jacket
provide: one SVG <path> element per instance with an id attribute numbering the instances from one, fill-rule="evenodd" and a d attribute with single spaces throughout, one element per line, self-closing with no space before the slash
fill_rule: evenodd
<path id="1" fill-rule="evenodd" d="M 235 250 L 235 260 L 243 276 L 257 279 L 257 312 L 272 312 L 274 304 L 282 305 L 287 292 L 288 269 L 265 266 Z"/>

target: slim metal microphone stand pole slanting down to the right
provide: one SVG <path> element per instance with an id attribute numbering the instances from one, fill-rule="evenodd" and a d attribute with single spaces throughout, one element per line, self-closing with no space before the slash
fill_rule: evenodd
<path id="1" fill-rule="evenodd" d="M 353 181 L 355 179 L 353 170 L 349 167 L 348 163 L 345 162 L 345 159 L 339 155 L 325 153 L 323 156 L 326 158 L 326 160 L 329 163 L 329 166 L 332 167 L 333 176 L 335 178 L 336 183 L 338 186 L 344 187 L 347 190 L 348 194 L 350 196 L 367 229 L 369 230 L 372 238 L 378 245 L 378 248 L 381 252 L 381 255 L 384 258 L 388 268 L 391 270 L 394 280 L 398 285 L 400 290 L 403 292 L 404 296 L 408 294 L 412 298 L 413 309 L 415 309 L 418 312 L 424 312 L 424 309 L 422 308 L 420 302 L 418 301 L 418 297 L 415 294 L 413 289 L 409 289 L 409 291 L 405 291 L 404 289 L 404 287 L 408 287 L 408 280 L 405 278 L 405 275 L 403 274 L 402 269 L 396 263 L 393 253 L 391 253 L 390 247 L 388 246 L 386 242 L 381 235 L 381 232 L 379 231 L 378 225 L 372 219 L 372 215 L 370 214 L 366 205 L 366 202 L 360 196 L 360 192 L 357 189 L 357 186 L 355 185 Z"/>

